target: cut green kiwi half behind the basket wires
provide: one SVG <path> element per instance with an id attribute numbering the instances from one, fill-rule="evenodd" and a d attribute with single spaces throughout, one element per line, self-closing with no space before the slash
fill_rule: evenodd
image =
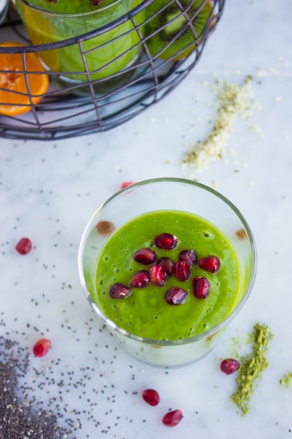
<path id="1" fill-rule="evenodd" d="M 163 11 L 151 18 L 167 3 L 169 0 L 154 0 L 146 7 L 146 17 L 149 19 L 146 25 L 146 35 L 151 35 L 160 29 L 146 40 L 147 48 L 151 56 L 159 54 L 158 57 L 163 60 L 182 60 L 200 44 L 199 37 L 212 15 L 213 4 L 211 0 L 180 0 L 183 6 L 182 11 L 178 3 L 172 1 Z M 200 7 L 201 10 L 197 13 Z M 184 11 L 186 11 L 187 19 L 183 15 Z M 169 23 L 170 20 L 173 21 Z M 191 22 L 187 24 L 187 20 Z M 178 35 L 186 25 L 186 29 Z M 167 44 L 169 46 L 164 49 Z M 184 48 L 186 49 L 183 50 Z"/>

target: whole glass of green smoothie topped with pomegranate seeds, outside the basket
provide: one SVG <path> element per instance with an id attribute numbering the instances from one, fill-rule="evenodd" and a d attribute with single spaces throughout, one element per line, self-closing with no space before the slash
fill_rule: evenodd
<path id="1" fill-rule="evenodd" d="M 92 309 L 123 348 L 171 367 L 210 352 L 242 309 L 256 247 L 225 197 L 162 178 L 133 184 L 96 210 L 78 267 Z"/>

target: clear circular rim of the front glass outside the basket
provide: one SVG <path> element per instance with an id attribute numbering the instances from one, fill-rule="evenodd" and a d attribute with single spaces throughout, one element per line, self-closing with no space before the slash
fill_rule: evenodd
<path id="1" fill-rule="evenodd" d="M 164 339 L 148 339 L 145 337 L 140 337 L 137 336 L 135 334 L 132 334 L 131 332 L 127 331 L 126 329 L 121 328 L 120 326 L 118 326 L 116 323 L 114 323 L 111 319 L 109 319 L 102 311 L 101 309 L 98 307 L 98 305 L 94 302 L 94 300 L 91 297 L 90 292 L 87 289 L 86 286 L 86 281 L 84 278 L 84 273 L 83 273 L 83 250 L 85 247 L 85 242 L 86 242 L 86 238 L 87 235 L 89 233 L 89 231 L 91 231 L 91 226 L 92 223 L 95 222 L 96 217 L 100 214 L 100 212 L 108 205 L 110 204 L 111 201 L 115 200 L 117 197 L 120 197 L 122 194 L 125 194 L 127 192 L 133 191 L 134 189 L 137 189 L 141 186 L 146 186 L 146 185 L 151 185 L 151 184 L 156 184 L 156 183 L 160 183 L 160 182 L 173 182 L 173 183 L 181 183 L 181 184 L 186 184 L 189 186 L 194 186 L 196 188 L 205 190 L 213 195 L 215 195 L 217 198 L 219 198 L 221 201 L 223 201 L 225 204 L 227 204 L 232 210 L 233 212 L 237 215 L 238 219 L 241 221 L 242 225 L 245 228 L 245 232 L 248 236 L 249 242 L 250 242 L 250 246 L 251 246 L 251 256 L 252 256 L 252 269 L 251 269 L 251 275 L 248 281 L 248 284 L 246 286 L 246 290 L 243 294 L 243 297 L 240 299 L 240 301 L 237 303 L 236 307 L 232 310 L 232 312 L 230 314 L 228 314 L 228 316 L 223 319 L 218 325 L 214 326 L 213 328 L 202 332 L 201 334 L 192 336 L 192 337 L 188 337 L 185 339 L 176 339 L 176 340 L 164 340 Z M 249 298 L 254 282 L 255 282 L 255 278 L 256 278 L 256 265 L 257 265 L 257 255 L 256 255 L 256 243 L 255 243 L 255 239 L 253 236 L 253 233 L 247 223 L 247 221 L 245 220 L 245 218 L 243 217 L 243 215 L 241 214 L 241 212 L 237 209 L 237 207 L 235 206 L 235 204 L 232 203 L 232 201 L 228 200 L 224 195 L 220 194 L 218 191 L 216 191 L 215 189 L 199 183 L 197 181 L 192 181 L 192 180 L 187 180 L 187 179 L 180 179 L 180 178 L 171 178 L 171 177 L 165 177 L 165 178 L 155 178 L 155 179 L 149 179 L 149 180 L 143 180 L 143 181 L 139 181 L 137 183 L 131 184 L 130 186 L 126 187 L 125 189 L 121 189 L 118 192 L 114 193 L 112 196 L 110 196 L 110 198 L 108 198 L 105 202 L 103 202 L 97 209 L 96 211 L 93 213 L 93 215 L 91 216 L 90 220 L 88 221 L 85 230 L 82 234 L 81 240 L 80 240 L 80 245 L 79 245 L 79 251 L 78 251 L 78 272 L 79 272 L 79 278 L 81 281 L 81 285 L 82 288 L 84 290 L 85 296 L 88 299 L 89 303 L 91 304 L 91 307 L 93 309 L 94 312 L 96 312 L 96 314 L 102 319 L 102 321 L 109 326 L 112 330 L 114 330 L 115 332 L 118 332 L 126 337 L 128 337 L 129 339 L 133 339 L 136 341 L 140 341 L 140 342 L 144 342 L 147 344 L 151 344 L 153 346 L 177 346 L 177 345 L 183 345 L 183 344 L 188 344 L 188 343 L 193 343 L 194 341 L 199 341 L 201 339 L 206 339 L 208 337 L 212 337 L 215 336 L 215 334 L 220 331 L 221 329 L 223 329 L 225 326 L 228 325 L 228 323 L 230 323 L 231 320 L 233 320 L 237 314 L 239 313 L 239 311 L 243 308 L 244 304 L 246 303 L 247 299 Z"/>

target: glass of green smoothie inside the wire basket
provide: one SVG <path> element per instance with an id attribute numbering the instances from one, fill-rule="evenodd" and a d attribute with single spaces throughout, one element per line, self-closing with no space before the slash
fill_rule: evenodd
<path id="1" fill-rule="evenodd" d="M 127 19 L 141 0 L 14 0 L 38 54 L 56 78 L 73 86 L 93 82 L 97 92 L 129 80 L 141 51 L 144 11 Z M 122 20 L 119 20 L 121 19 Z M 76 38 L 78 37 L 78 38 Z M 44 47 L 42 47 L 44 49 Z"/>

